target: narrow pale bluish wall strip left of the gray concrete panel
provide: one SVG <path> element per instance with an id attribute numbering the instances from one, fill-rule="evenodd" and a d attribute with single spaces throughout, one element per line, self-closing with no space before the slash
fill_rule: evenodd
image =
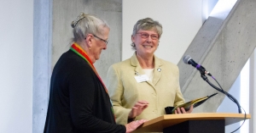
<path id="1" fill-rule="evenodd" d="M 44 130 L 51 76 L 52 1 L 34 1 L 32 132 Z"/>

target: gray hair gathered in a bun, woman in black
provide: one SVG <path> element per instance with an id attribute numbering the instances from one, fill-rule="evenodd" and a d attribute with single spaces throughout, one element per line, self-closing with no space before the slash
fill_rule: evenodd
<path id="1" fill-rule="evenodd" d="M 72 21 L 71 26 L 73 27 L 73 42 L 82 42 L 88 34 L 102 36 L 103 28 L 110 29 L 105 20 L 84 13 L 79 14 L 77 19 Z"/>

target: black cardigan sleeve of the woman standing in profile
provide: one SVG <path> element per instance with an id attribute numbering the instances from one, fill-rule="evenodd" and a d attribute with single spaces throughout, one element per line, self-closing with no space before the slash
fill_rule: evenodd
<path id="1" fill-rule="evenodd" d="M 125 125 L 116 125 L 97 119 L 94 108 L 96 78 L 92 70 L 83 66 L 73 69 L 69 76 L 70 115 L 73 125 L 82 132 L 125 133 Z M 101 109 L 101 108 L 99 108 Z"/>

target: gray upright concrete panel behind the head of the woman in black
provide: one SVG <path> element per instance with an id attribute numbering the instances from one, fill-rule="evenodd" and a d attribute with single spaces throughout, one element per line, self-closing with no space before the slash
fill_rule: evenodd
<path id="1" fill-rule="evenodd" d="M 105 80 L 108 67 L 121 59 L 122 1 L 53 0 L 53 7 L 52 68 L 61 54 L 71 46 L 73 37 L 71 22 L 81 12 L 94 14 L 105 19 L 111 28 L 107 50 L 102 51 L 101 58 L 95 63 L 99 75 Z"/>

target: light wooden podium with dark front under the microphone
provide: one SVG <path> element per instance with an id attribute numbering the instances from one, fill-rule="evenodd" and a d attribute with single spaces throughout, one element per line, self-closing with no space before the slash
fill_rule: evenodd
<path id="1" fill-rule="evenodd" d="M 250 114 L 166 114 L 148 120 L 135 132 L 224 133 L 225 125 L 250 118 Z"/>

